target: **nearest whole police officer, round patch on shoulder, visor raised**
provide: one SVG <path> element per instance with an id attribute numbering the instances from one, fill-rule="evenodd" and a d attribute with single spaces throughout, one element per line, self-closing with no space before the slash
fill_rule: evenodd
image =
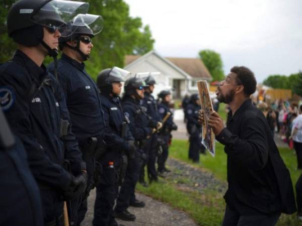
<path id="1" fill-rule="evenodd" d="M 8 14 L 8 34 L 18 49 L 13 59 L 0 67 L 1 103 L 14 134 L 23 142 L 39 185 L 45 225 L 62 225 L 62 197 L 81 194 L 87 182 L 78 142 L 67 126 L 64 95 L 43 65 L 46 55 L 55 57 L 58 29 L 66 22 L 64 13 L 71 16 L 77 9 L 86 13 L 85 5 L 19 0 Z M 73 175 L 63 168 L 64 158 L 69 160 Z"/>

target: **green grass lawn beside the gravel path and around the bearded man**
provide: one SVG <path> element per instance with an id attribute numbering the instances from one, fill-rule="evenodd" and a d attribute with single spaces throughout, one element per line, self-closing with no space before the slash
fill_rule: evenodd
<path id="1" fill-rule="evenodd" d="M 170 147 L 170 157 L 186 162 L 194 167 L 211 171 L 216 178 L 226 183 L 226 155 L 223 146 L 216 143 L 216 154 L 213 158 L 209 153 L 200 156 L 200 163 L 193 164 L 188 160 L 188 143 L 185 140 L 173 140 Z M 297 181 L 301 171 L 296 170 L 296 156 L 287 148 L 280 148 L 280 154 L 287 165 L 293 183 Z M 170 203 L 172 206 L 187 212 L 199 225 L 221 225 L 224 214 L 223 194 L 211 190 L 205 190 L 200 194 L 196 191 L 180 189 L 174 181 L 162 179 L 160 183 L 154 183 L 148 188 L 137 186 L 137 189 L 156 199 Z M 278 226 L 302 226 L 296 220 L 296 214 L 282 214 Z"/>

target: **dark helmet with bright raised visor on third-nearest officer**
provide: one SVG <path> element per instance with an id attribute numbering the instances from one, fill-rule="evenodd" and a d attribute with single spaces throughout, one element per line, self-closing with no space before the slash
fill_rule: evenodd
<path id="1" fill-rule="evenodd" d="M 119 67 L 104 69 L 98 75 L 97 85 L 101 93 L 110 94 L 112 93 L 112 83 L 124 81 L 124 77 L 129 74 L 131 72 Z"/>

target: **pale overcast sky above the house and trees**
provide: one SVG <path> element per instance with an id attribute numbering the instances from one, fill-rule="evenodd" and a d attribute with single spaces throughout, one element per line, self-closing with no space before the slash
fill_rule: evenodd
<path id="1" fill-rule="evenodd" d="M 224 73 L 234 65 L 270 74 L 302 70 L 302 0 L 125 0 L 132 17 L 149 25 L 164 57 L 220 53 Z"/>

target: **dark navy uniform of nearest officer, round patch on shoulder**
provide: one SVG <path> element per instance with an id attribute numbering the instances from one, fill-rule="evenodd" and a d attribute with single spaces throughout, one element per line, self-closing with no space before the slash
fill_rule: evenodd
<path id="1" fill-rule="evenodd" d="M 40 187 L 44 222 L 60 224 L 62 190 L 68 189 L 72 181 L 72 175 L 62 167 L 64 157 L 70 160 L 73 172 L 86 168 L 70 130 L 65 136 L 65 151 L 60 138 L 60 121 L 69 117 L 64 95 L 44 65 L 39 67 L 19 50 L 4 66 L 0 86 L 16 97 L 15 102 L 9 100 L 6 105 L 8 122 L 24 144 Z"/>

